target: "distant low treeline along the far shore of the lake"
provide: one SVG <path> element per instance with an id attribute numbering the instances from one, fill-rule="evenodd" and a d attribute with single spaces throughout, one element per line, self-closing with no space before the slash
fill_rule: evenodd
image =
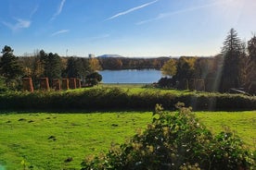
<path id="1" fill-rule="evenodd" d="M 158 58 L 128 58 L 128 57 L 98 57 L 103 69 L 160 69 L 169 57 Z"/>

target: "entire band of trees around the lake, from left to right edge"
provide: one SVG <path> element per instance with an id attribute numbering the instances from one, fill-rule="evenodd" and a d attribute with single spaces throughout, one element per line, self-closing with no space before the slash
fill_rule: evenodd
<path id="1" fill-rule="evenodd" d="M 86 76 L 102 69 L 161 69 L 171 87 L 184 79 L 213 79 L 216 91 L 256 91 L 256 36 L 243 42 L 234 29 L 229 30 L 221 53 L 211 57 L 63 57 L 44 50 L 17 57 L 13 52 L 6 45 L 0 57 L 1 81 L 9 89 L 19 90 L 24 77 L 32 78 L 36 87 L 38 79 L 44 77 L 51 85 L 53 79 L 78 78 L 84 82 Z"/>

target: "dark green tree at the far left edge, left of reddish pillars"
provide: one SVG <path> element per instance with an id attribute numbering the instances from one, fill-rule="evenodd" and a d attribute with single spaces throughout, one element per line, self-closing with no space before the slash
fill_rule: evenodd
<path id="1" fill-rule="evenodd" d="M 6 86 L 11 87 L 13 80 L 18 80 L 19 76 L 22 75 L 22 68 L 19 65 L 18 57 L 13 55 L 13 49 L 9 46 L 5 46 L 2 50 L 3 56 L 0 61 L 0 72 L 5 78 Z"/>

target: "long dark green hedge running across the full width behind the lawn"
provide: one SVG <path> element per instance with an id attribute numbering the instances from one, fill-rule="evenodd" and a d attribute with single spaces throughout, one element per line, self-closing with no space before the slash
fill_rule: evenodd
<path id="1" fill-rule="evenodd" d="M 193 110 L 256 110 L 256 97 L 237 94 L 185 93 L 167 91 L 124 91 L 121 88 L 92 88 L 83 91 L 6 91 L 0 93 L 0 109 L 154 110 L 162 103 L 168 110 L 177 102 Z"/>

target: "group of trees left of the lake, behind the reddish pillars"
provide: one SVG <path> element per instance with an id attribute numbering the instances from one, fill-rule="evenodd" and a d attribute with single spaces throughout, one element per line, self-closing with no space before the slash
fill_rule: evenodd
<path id="1" fill-rule="evenodd" d="M 21 88 L 21 79 L 32 78 L 33 87 L 39 89 L 40 78 L 48 78 L 52 87 L 54 79 L 91 79 L 101 69 L 96 58 L 60 57 L 58 54 L 37 51 L 30 56 L 17 57 L 10 46 L 5 46 L 0 57 L 0 89 Z"/>

